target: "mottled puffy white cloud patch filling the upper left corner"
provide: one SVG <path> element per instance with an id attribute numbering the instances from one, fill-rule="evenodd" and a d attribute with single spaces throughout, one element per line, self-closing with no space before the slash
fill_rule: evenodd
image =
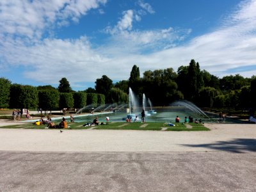
<path id="1" fill-rule="evenodd" d="M 41 38 L 45 30 L 54 25 L 68 24 L 67 19 L 78 22 L 88 10 L 98 8 L 106 0 L 10 1 L 0 2 L 0 33 Z"/>

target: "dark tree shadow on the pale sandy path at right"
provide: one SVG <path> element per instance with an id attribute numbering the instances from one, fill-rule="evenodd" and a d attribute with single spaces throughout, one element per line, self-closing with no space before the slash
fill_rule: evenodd
<path id="1" fill-rule="evenodd" d="M 243 153 L 245 151 L 256 152 L 256 139 L 235 139 L 231 141 L 218 141 L 215 143 L 205 143 L 200 145 L 188 145 L 187 147 L 205 147 L 215 150 Z"/>

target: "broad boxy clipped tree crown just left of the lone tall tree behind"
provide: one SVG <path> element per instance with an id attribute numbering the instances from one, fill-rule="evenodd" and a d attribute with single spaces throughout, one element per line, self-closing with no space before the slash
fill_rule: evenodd
<path id="1" fill-rule="evenodd" d="M 60 93 L 55 89 L 40 90 L 38 92 L 39 104 L 38 106 L 43 110 L 58 108 L 60 102 Z"/>

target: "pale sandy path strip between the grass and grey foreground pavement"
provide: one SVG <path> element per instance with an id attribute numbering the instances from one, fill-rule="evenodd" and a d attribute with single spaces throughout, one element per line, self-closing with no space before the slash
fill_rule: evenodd
<path id="1" fill-rule="evenodd" d="M 189 152 L 223 150 L 223 147 L 233 150 L 236 145 L 250 150 L 248 142 L 255 144 L 255 124 L 205 125 L 211 131 L 64 130 L 60 133 L 57 129 L 0 129 L 0 150 Z"/>

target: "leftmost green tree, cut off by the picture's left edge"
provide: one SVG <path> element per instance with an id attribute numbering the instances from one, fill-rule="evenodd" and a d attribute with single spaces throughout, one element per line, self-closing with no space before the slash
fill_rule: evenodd
<path id="1" fill-rule="evenodd" d="M 8 108 L 10 101 L 11 81 L 0 78 L 0 108 Z"/>

